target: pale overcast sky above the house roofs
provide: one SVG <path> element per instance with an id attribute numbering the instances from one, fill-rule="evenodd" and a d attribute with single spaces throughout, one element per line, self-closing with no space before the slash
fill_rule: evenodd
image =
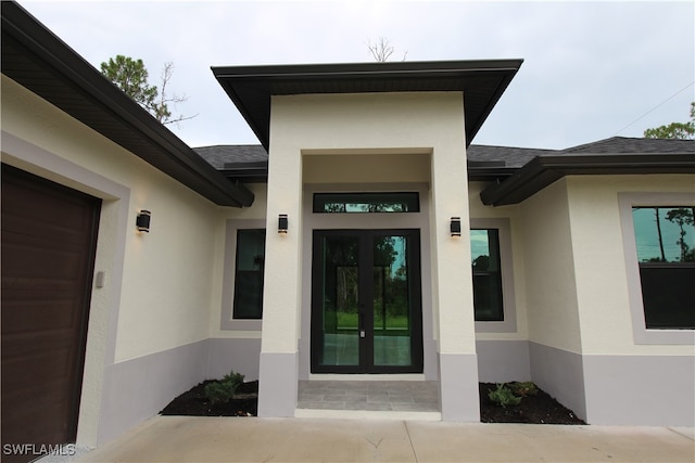
<path id="1" fill-rule="evenodd" d="M 169 125 L 190 146 L 257 144 L 211 66 L 523 59 L 475 144 L 566 149 L 687 121 L 695 101 L 695 2 L 27 1 L 99 68 L 141 59 L 187 101 Z"/>

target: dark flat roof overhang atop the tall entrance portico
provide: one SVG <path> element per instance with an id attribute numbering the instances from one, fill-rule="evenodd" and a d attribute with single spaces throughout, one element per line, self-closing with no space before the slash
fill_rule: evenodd
<path id="1" fill-rule="evenodd" d="M 469 145 L 523 60 L 213 67 L 267 150 L 270 98 L 289 94 L 463 91 Z"/>

